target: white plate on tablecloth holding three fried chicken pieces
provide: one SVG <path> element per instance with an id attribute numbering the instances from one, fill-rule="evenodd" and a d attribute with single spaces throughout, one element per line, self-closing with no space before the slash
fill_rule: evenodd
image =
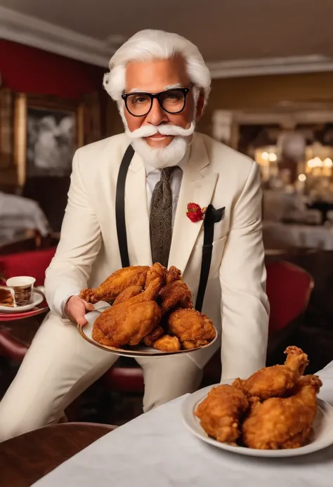
<path id="1" fill-rule="evenodd" d="M 228 381 L 222 381 L 221 384 L 232 384 L 233 379 Z M 301 446 L 301 448 L 289 448 L 287 450 L 256 450 L 254 448 L 246 448 L 244 446 L 233 446 L 228 443 L 221 443 L 220 441 L 210 438 L 207 433 L 200 426 L 200 420 L 194 415 L 194 411 L 197 405 L 201 403 L 207 394 L 213 387 L 205 387 L 196 391 L 195 393 L 188 396 L 183 403 L 182 416 L 185 426 L 190 430 L 192 434 L 200 438 L 200 440 L 214 445 L 222 450 L 228 450 L 233 453 L 239 453 L 240 455 L 250 455 L 252 457 L 296 457 L 299 455 L 307 455 L 308 453 L 313 453 L 317 450 L 322 450 L 322 448 L 327 448 L 327 446 L 333 443 L 333 408 L 325 401 L 317 399 L 318 412 L 313 422 L 313 434 L 311 437 L 311 442 L 306 446 Z"/>

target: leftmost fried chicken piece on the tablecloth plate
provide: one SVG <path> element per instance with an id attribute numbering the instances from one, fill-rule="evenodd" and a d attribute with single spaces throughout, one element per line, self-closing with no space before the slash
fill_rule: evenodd
<path id="1" fill-rule="evenodd" d="M 248 408 L 247 396 L 225 384 L 209 391 L 195 415 L 209 436 L 222 443 L 235 443 L 240 437 L 240 420 Z"/>

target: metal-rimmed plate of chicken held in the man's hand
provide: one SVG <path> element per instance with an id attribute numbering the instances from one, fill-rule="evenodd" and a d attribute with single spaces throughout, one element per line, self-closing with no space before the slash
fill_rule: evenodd
<path id="1" fill-rule="evenodd" d="M 87 325 L 81 326 L 77 325 L 77 329 L 79 330 L 79 333 L 84 339 L 86 339 L 87 342 L 98 346 L 99 349 L 103 349 L 106 351 L 110 351 L 112 353 L 115 353 L 116 355 L 119 356 L 124 356 L 124 357 L 158 357 L 158 356 L 171 356 L 175 355 L 176 353 L 191 353 L 192 351 L 199 350 L 199 349 L 206 349 L 207 346 L 211 346 L 213 344 L 217 337 L 217 331 L 215 330 L 215 338 L 212 342 L 210 342 L 208 345 L 200 346 L 197 349 L 190 349 L 190 350 L 179 350 L 179 351 L 173 351 L 173 352 L 166 352 L 166 351 L 160 351 L 153 349 L 150 346 L 145 346 L 145 345 L 136 345 L 136 346 L 131 346 L 129 349 L 118 349 L 113 346 L 107 346 L 107 345 L 102 345 L 96 340 L 93 339 L 92 333 L 93 333 L 93 323 L 95 322 L 96 318 L 100 315 L 102 311 L 105 309 L 110 308 L 110 304 L 105 306 L 105 304 L 100 304 L 98 303 L 98 306 L 95 306 L 96 311 L 90 311 L 90 313 L 86 313 L 85 318 L 88 321 Z"/>

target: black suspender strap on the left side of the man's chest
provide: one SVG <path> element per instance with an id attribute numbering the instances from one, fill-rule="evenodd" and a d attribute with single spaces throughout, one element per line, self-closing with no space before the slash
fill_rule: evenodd
<path id="1" fill-rule="evenodd" d="M 116 226 L 120 258 L 122 266 L 129 266 L 129 247 L 127 246 L 126 221 L 125 221 L 125 183 L 129 164 L 134 155 L 134 149 L 131 145 L 126 149 L 122 163 L 119 167 L 116 190 Z"/>

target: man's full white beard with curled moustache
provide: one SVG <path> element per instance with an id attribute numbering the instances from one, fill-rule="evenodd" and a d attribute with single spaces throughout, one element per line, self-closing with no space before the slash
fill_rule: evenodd
<path id="1" fill-rule="evenodd" d="M 140 129 L 131 132 L 124 117 L 124 111 L 119 108 L 120 115 L 124 122 L 125 132 L 131 138 L 133 149 L 138 152 L 145 164 L 155 169 L 164 169 L 164 167 L 176 166 L 185 156 L 188 145 L 192 142 L 192 134 L 195 131 L 195 122 L 193 121 L 189 129 L 183 129 L 180 126 L 172 124 L 161 125 L 143 125 Z M 152 148 L 145 141 L 145 137 L 155 134 L 174 136 L 173 141 L 162 148 Z"/>

